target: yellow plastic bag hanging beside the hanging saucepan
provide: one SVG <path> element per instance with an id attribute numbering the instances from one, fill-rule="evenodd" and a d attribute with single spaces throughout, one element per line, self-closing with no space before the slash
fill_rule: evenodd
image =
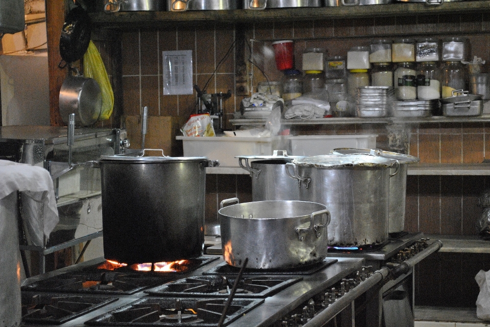
<path id="1" fill-rule="evenodd" d="M 112 92 L 109 76 L 102 62 L 101 54 L 92 41 L 88 44 L 88 49 L 85 55 L 83 55 L 83 75 L 85 77 L 91 77 L 99 83 L 102 93 L 100 120 L 109 119 L 114 107 L 114 92 Z"/>

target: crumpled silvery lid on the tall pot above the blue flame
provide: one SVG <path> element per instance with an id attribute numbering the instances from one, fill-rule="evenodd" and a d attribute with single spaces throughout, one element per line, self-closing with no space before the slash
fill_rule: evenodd
<path id="1" fill-rule="evenodd" d="M 300 166 L 317 168 L 340 168 L 354 166 L 386 168 L 395 165 L 397 161 L 372 154 L 324 154 L 294 159 L 292 162 Z"/>

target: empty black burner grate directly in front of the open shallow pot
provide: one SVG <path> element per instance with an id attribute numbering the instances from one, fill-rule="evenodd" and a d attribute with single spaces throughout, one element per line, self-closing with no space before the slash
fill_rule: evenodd
<path id="1" fill-rule="evenodd" d="M 266 297 L 302 280 L 280 276 L 261 276 L 243 278 L 238 282 L 235 297 Z M 145 290 L 145 293 L 158 296 L 212 296 L 228 297 L 235 278 L 225 276 L 197 276 L 169 282 Z"/>

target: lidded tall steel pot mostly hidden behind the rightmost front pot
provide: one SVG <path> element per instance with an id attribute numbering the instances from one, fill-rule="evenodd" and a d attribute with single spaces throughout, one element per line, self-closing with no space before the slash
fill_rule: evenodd
<path id="1" fill-rule="evenodd" d="M 408 154 L 383 151 L 380 149 L 341 148 L 332 150 L 334 154 L 372 154 L 387 159 L 398 160 L 398 174 L 389 179 L 388 233 L 400 233 L 405 228 L 405 203 L 407 195 L 407 171 L 410 163 L 420 159 Z M 390 168 L 395 172 L 396 167 Z"/>

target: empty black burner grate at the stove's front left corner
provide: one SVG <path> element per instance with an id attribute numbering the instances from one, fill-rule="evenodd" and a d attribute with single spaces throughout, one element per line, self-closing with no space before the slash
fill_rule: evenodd
<path id="1" fill-rule="evenodd" d="M 59 325 L 117 301 L 117 297 L 22 292 L 22 322 Z"/>

